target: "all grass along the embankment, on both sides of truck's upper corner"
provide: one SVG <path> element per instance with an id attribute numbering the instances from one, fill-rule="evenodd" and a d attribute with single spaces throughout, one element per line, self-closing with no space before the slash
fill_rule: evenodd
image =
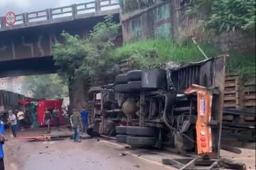
<path id="1" fill-rule="evenodd" d="M 201 45 L 208 57 L 216 57 L 222 52 Z M 112 59 L 115 61 L 129 59 L 134 61 L 135 68 L 149 68 L 165 62 L 188 63 L 205 59 L 196 45 L 188 42 L 172 42 L 164 39 L 149 39 L 131 42 L 114 50 Z M 230 54 L 227 62 L 227 72 L 242 74 L 243 76 L 255 75 L 255 55 Z"/>

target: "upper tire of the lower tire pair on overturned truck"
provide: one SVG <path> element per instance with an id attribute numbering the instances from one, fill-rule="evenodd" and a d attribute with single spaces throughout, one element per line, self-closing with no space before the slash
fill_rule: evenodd
<path id="1" fill-rule="evenodd" d="M 127 135 L 134 136 L 154 136 L 156 131 L 154 128 L 149 127 L 138 127 L 138 126 L 127 126 Z"/>

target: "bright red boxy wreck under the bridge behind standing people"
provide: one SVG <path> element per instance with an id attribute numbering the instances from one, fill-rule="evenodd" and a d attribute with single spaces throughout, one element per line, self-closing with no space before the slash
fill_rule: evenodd
<path id="1" fill-rule="evenodd" d="M 55 99 L 55 100 L 42 100 L 38 101 L 38 125 L 39 126 L 44 126 L 46 125 L 45 120 L 43 120 L 43 115 L 46 112 L 46 108 L 52 113 L 53 109 L 56 107 L 60 111 L 60 119 L 59 123 L 60 125 L 64 125 L 64 119 L 62 116 L 62 99 Z M 55 125 L 55 120 L 52 119 L 50 122 L 50 125 Z"/>

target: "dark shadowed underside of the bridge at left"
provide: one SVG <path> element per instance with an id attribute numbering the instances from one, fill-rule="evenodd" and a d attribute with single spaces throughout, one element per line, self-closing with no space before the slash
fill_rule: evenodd
<path id="1" fill-rule="evenodd" d="M 53 57 L 35 57 L 23 60 L 0 62 L 0 78 L 51 74 L 57 72 Z"/>

